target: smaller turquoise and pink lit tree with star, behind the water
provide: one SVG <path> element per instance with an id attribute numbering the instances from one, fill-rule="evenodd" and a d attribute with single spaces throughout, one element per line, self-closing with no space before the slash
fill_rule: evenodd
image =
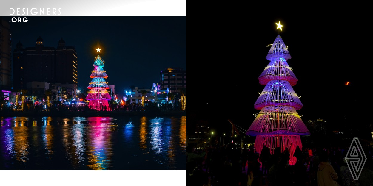
<path id="1" fill-rule="evenodd" d="M 97 52 L 100 52 L 101 49 L 97 49 Z M 107 82 L 104 78 L 107 78 L 107 75 L 102 68 L 104 66 L 105 61 L 102 61 L 100 55 L 94 60 L 94 70 L 90 78 L 93 78 L 88 89 L 91 89 L 90 93 L 88 93 L 85 99 L 89 100 L 90 103 L 88 107 L 94 110 L 111 110 L 109 107 L 108 100 L 112 99 L 110 94 L 107 93 L 106 89 L 109 89 L 107 86 Z"/>

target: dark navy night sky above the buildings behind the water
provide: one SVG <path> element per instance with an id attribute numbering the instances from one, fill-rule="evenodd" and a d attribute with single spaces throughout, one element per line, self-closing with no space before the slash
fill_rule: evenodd
<path id="1" fill-rule="evenodd" d="M 39 36 L 46 47 L 56 48 L 61 38 L 75 46 L 78 89 L 92 80 L 98 47 L 106 81 L 120 97 L 132 85 L 150 89 L 167 67 L 186 70 L 186 16 L 29 16 L 26 23 L 10 23 L 10 29 L 12 51 L 18 41 L 34 47 Z"/>

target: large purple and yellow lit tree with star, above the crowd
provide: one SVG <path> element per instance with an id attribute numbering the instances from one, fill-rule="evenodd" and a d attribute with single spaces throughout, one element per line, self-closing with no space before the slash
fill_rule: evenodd
<path id="1" fill-rule="evenodd" d="M 280 22 L 276 24 L 281 29 Z M 270 63 L 258 77 L 259 83 L 266 87 L 254 104 L 260 112 L 246 135 L 256 136 L 254 146 L 259 153 L 263 145 L 269 148 L 271 154 L 276 147 L 281 147 L 281 152 L 288 147 L 289 164 L 294 165 L 296 158 L 292 155 L 295 148 L 297 145 L 302 148 L 300 135 L 309 135 L 310 132 L 295 111 L 303 105 L 291 87 L 298 80 L 286 62 L 291 56 L 280 35 L 273 42 L 266 59 Z"/>

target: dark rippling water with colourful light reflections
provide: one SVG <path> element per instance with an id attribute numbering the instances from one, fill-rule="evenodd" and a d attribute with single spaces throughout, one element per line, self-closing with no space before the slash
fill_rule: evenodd
<path id="1" fill-rule="evenodd" d="M 186 169 L 186 116 L 0 120 L 3 170 Z"/>

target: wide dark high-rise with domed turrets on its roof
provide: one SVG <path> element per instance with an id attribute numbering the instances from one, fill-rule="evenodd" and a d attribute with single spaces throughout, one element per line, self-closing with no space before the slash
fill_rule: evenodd
<path id="1" fill-rule="evenodd" d="M 24 48 L 19 41 L 13 50 L 13 88 L 25 89 L 26 83 L 40 81 L 50 84 L 78 84 L 78 54 L 75 47 L 45 47 L 39 36 L 35 47 Z"/>

